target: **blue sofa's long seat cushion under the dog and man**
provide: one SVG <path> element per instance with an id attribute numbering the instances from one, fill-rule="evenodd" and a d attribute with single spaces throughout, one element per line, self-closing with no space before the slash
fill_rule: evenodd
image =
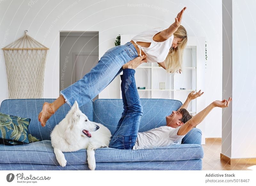
<path id="1" fill-rule="evenodd" d="M 39 163 L 59 165 L 50 140 L 31 144 L 4 146 L 0 144 L 0 163 Z M 67 165 L 87 163 L 86 150 L 64 153 Z M 95 150 L 96 162 L 175 161 L 203 158 L 203 147 L 197 144 L 171 145 L 153 149 L 119 150 L 100 148 Z"/>

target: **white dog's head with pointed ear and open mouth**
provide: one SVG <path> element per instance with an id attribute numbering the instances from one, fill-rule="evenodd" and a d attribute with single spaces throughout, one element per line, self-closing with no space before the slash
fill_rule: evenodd
<path id="1" fill-rule="evenodd" d="M 68 125 L 71 130 L 79 132 L 82 136 L 91 138 L 90 132 L 98 130 L 100 127 L 94 122 L 91 122 L 88 117 L 81 112 L 78 103 L 75 101 L 74 105 L 67 114 Z"/>

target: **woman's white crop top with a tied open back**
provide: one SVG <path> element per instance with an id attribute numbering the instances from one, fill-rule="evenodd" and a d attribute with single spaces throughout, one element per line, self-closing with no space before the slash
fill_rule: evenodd
<path id="1" fill-rule="evenodd" d="M 134 36 L 132 38 L 132 41 L 137 45 L 138 48 L 140 48 L 140 56 L 141 56 L 141 50 L 147 55 L 147 61 L 149 63 L 161 63 L 165 60 L 167 57 L 169 50 L 172 46 L 172 41 L 173 41 L 173 35 L 162 42 L 156 42 L 153 40 L 153 37 L 165 30 L 165 28 L 156 28 L 156 29 L 151 29 L 147 30 L 144 32 L 139 33 L 138 35 Z M 136 42 L 150 42 L 150 46 L 147 47 L 142 47 L 138 45 Z"/>

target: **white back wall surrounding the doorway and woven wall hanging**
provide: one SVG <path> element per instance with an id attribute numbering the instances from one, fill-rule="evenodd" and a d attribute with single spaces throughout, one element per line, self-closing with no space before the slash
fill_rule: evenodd
<path id="1" fill-rule="evenodd" d="M 35 3 L 34 3 L 35 2 Z M 114 46 L 118 34 L 136 34 L 152 27 L 167 27 L 187 6 L 182 25 L 190 36 L 207 41 L 205 73 L 206 104 L 222 95 L 221 0 L 216 1 L 0 1 L 1 47 L 28 34 L 50 48 L 47 55 L 44 97 L 59 95 L 60 31 L 99 31 L 99 55 Z M 0 101 L 7 99 L 7 77 L 3 51 L 0 53 Z M 3 87 L 3 88 L 2 88 Z M 119 97 L 118 81 L 100 93 L 100 98 Z M 181 100 L 184 101 L 184 100 Z M 206 137 L 221 137 L 221 110 L 206 118 Z"/>

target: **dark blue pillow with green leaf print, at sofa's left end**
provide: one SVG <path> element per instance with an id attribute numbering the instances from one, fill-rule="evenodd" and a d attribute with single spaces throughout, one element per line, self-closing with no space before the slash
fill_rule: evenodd
<path id="1" fill-rule="evenodd" d="M 31 119 L 0 113 L 0 139 L 29 143 L 28 125 Z"/>

